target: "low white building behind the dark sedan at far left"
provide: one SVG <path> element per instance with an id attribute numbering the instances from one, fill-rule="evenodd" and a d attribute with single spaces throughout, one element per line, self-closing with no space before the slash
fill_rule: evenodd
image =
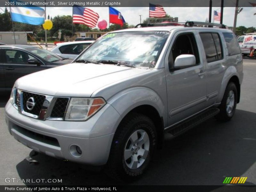
<path id="1" fill-rule="evenodd" d="M 33 33 L 32 31 L 15 31 L 16 44 L 28 44 L 27 33 Z M 15 44 L 13 31 L 0 31 L 0 43 Z"/>

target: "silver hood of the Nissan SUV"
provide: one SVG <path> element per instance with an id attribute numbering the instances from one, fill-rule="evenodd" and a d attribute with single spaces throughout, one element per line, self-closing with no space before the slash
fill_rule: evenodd
<path id="1" fill-rule="evenodd" d="M 90 97 L 108 84 L 148 72 L 116 65 L 71 63 L 19 78 L 19 89 L 53 96 Z"/>

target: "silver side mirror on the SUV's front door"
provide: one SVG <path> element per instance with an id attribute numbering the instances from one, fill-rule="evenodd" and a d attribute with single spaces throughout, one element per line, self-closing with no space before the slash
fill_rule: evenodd
<path id="1" fill-rule="evenodd" d="M 185 68 L 196 65 L 195 55 L 183 54 L 176 57 L 174 61 L 174 69 Z"/>

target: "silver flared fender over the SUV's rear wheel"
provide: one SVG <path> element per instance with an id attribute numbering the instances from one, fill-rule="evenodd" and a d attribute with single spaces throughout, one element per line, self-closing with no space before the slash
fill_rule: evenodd
<path id="1" fill-rule="evenodd" d="M 231 79 L 232 76 L 237 76 L 239 81 L 240 81 L 238 72 L 236 70 L 236 67 L 234 67 L 234 66 L 228 67 L 227 70 L 224 73 L 224 76 L 223 76 L 222 82 L 221 82 L 220 94 L 219 94 L 219 97 L 217 99 L 217 103 L 221 102 L 221 100 L 223 98 L 223 95 L 224 95 L 224 92 L 226 90 L 226 87 L 228 85 L 228 82 L 229 82 L 229 80 Z"/>

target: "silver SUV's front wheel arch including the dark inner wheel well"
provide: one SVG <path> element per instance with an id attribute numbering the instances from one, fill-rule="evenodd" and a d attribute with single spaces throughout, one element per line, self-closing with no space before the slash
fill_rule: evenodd
<path id="1" fill-rule="evenodd" d="M 143 114 L 154 122 L 158 140 L 157 148 L 162 147 L 167 109 L 165 108 L 165 101 L 154 90 L 147 87 L 132 87 L 119 92 L 107 102 L 120 114 L 116 130 L 125 117 L 131 113 Z"/>

